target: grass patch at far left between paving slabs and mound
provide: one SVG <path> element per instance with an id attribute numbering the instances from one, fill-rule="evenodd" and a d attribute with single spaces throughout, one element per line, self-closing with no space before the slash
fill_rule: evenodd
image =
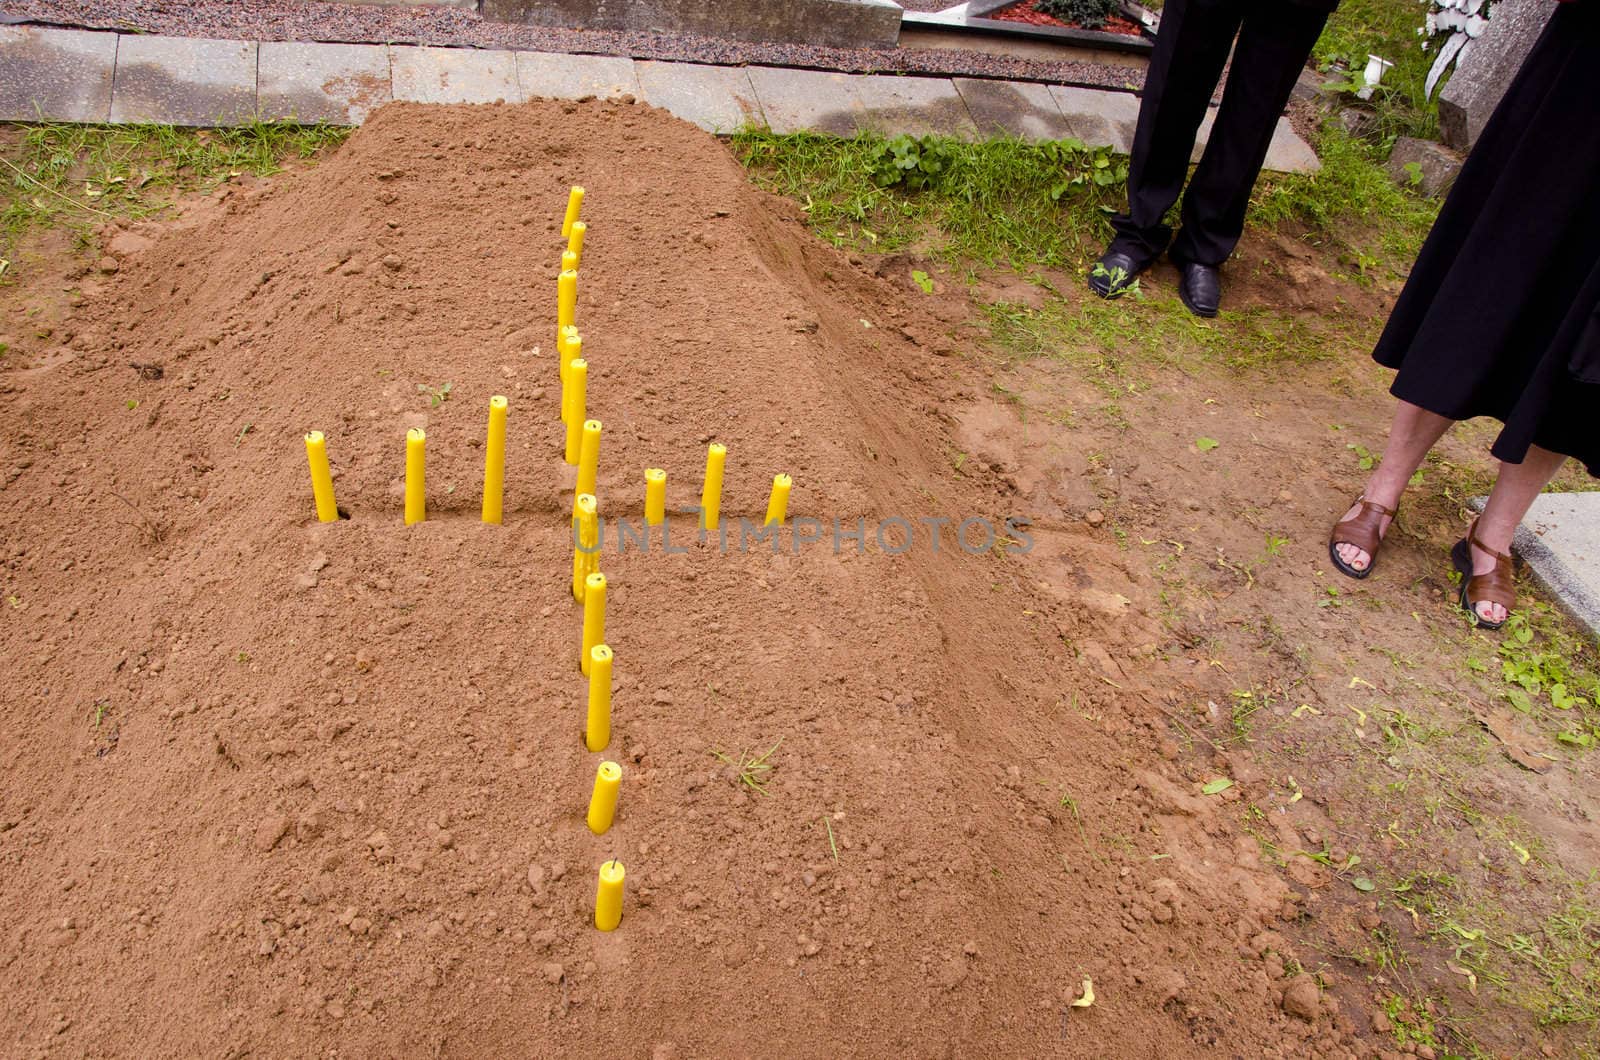
<path id="1" fill-rule="evenodd" d="M 146 218 L 178 195 L 344 143 L 333 125 L 254 122 L 237 128 L 171 125 L 0 125 L 0 240 L 6 256 L 30 231 L 66 226 L 78 245 L 112 218 Z"/>

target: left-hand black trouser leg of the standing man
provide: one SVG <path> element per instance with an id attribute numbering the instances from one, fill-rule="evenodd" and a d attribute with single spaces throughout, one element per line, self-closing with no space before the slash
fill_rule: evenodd
<path id="1" fill-rule="evenodd" d="M 1112 218 L 1109 253 L 1141 269 L 1171 240 L 1166 211 L 1189 175 L 1189 155 L 1216 82 L 1227 64 L 1246 0 L 1168 0 L 1144 77 L 1139 125 L 1128 167 L 1128 211 Z"/>

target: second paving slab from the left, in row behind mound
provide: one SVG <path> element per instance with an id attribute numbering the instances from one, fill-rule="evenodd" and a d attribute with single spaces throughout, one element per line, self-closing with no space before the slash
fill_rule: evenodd
<path id="1" fill-rule="evenodd" d="M 123 34 L 112 122 L 240 125 L 256 117 L 256 42 Z"/>

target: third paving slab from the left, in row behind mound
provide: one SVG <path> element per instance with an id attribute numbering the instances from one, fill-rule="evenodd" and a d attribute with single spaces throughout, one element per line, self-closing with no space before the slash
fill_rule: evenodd
<path id="1" fill-rule="evenodd" d="M 264 118 L 360 125 L 389 102 L 389 45 L 261 42 L 256 98 Z"/>

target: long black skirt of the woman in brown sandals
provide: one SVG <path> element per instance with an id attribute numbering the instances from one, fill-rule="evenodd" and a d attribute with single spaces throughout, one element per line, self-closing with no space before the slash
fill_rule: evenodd
<path id="1" fill-rule="evenodd" d="M 1445 199 L 1373 351 L 1413 405 L 1600 476 L 1600 0 L 1558 5 Z"/>

